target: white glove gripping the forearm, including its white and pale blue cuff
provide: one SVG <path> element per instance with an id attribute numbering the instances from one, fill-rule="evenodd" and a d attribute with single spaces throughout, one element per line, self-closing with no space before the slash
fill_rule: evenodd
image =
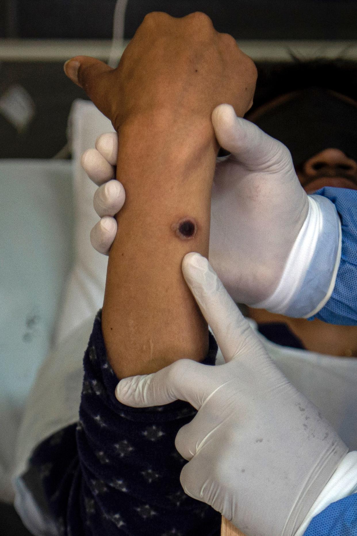
<path id="1" fill-rule="evenodd" d="M 232 106 L 215 108 L 212 122 L 219 144 L 231 153 L 217 159 L 212 187 L 209 259 L 214 270 L 236 302 L 289 316 L 315 314 L 330 297 L 338 268 L 334 205 L 322 196 L 308 197 L 285 145 L 237 117 Z M 110 143 L 114 151 L 115 134 Z M 84 167 L 95 182 L 100 174 L 101 183 L 114 170 L 104 138 L 97 149 L 85 153 Z M 114 165 L 114 158 L 109 163 Z M 110 189 L 101 186 L 94 196 L 100 216 L 122 206 L 120 183 L 108 184 Z M 111 232 L 102 227 L 92 231 L 99 251 L 115 236 L 114 226 Z"/>

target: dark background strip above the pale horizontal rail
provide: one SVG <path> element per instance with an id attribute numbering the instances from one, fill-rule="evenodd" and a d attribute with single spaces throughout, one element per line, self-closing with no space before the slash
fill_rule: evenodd
<path id="1" fill-rule="evenodd" d="M 115 0 L 2 0 L 0 37 L 110 39 Z M 204 11 L 239 39 L 356 39 L 355 0 L 129 0 L 125 37 L 146 13 Z"/>

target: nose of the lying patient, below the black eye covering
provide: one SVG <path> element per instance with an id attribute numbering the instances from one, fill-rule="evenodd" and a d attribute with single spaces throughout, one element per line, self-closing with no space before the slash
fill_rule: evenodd
<path id="1" fill-rule="evenodd" d="M 334 174 L 338 176 L 339 173 L 343 175 L 356 175 L 357 174 L 357 162 L 351 158 L 346 157 L 345 153 L 339 149 L 324 149 L 313 157 L 309 158 L 302 167 L 302 171 L 305 175 L 314 177 L 315 175 L 321 176 L 322 173 Z"/>

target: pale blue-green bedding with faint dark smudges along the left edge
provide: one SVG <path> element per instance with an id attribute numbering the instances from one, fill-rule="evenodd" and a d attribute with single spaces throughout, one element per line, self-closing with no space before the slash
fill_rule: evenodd
<path id="1" fill-rule="evenodd" d="M 72 262 L 71 163 L 0 162 L 0 498 L 11 500 L 23 405 L 46 357 Z"/>

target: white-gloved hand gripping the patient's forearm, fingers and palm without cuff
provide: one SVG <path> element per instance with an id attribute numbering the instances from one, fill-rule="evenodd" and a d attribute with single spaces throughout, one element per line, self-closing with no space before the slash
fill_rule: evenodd
<path id="1" fill-rule="evenodd" d="M 308 213 L 308 198 L 296 176 L 291 155 L 256 125 L 237 117 L 229 105 L 214 109 L 212 122 L 219 144 L 232 154 L 218 159 L 210 232 L 210 262 L 235 301 L 254 304 L 273 293 Z M 82 165 L 99 183 L 114 177 L 115 133 L 101 136 L 97 151 L 83 155 Z M 119 200 L 118 205 L 114 197 Z M 120 210 L 121 185 L 109 182 L 95 193 L 100 217 Z M 111 210 L 110 210 L 111 207 Z M 92 230 L 95 249 L 115 233 Z M 114 226 L 113 226 L 114 228 Z"/>

